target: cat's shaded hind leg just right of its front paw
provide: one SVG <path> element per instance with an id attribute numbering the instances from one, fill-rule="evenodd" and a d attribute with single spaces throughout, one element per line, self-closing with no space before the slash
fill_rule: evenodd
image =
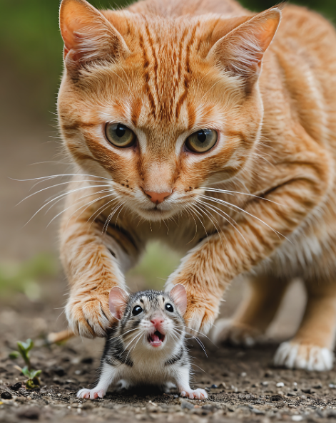
<path id="1" fill-rule="evenodd" d="M 288 281 L 270 275 L 250 279 L 250 296 L 240 305 L 232 319 L 215 322 L 212 338 L 215 343 L 251 347 L 263 340 L 265 330 L 278 311 Z"/>

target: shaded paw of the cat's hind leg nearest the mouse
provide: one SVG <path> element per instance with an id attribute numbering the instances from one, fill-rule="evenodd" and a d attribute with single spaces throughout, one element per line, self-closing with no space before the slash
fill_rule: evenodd
<path id="1" fill-rule="evenodd" d="M 232 345 L 243 345 L 253 347 L 256 343 L 263 341 L 263 334 L 260 330 L 248 325 L 240 325 L 229 319 L 217 320 L 211 338 L 214 343 L 230 343 Z"/>

